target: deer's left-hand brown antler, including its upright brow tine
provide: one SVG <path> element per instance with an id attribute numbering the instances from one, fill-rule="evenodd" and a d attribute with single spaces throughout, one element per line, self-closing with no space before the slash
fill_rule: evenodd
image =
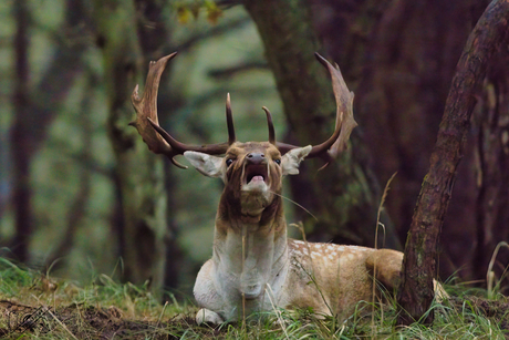
<path id="1" fill-rule="evenodd" d="M 157 62 L 150 62 L 148 75 L 145 84 L 143 97 L 138 96 L 138 85 L 133 91 L 131 100 L 136 111 L 136 120 L 129 125 L 136 127 L 148 148 L 156 154 L 166 155 L 173 164 L 180 168 L 187 168 L 174 159 L 176 155 L 181 155 L 186 151 L 197 151 L 210 155 L 224 154 L 228 146 L 235 143 L 233 119 L 231 117 L 230 95 L 227 96 L 226 119 L 228 124 L 228 142 L 208 145 L 187 145 L 172 137 L 163 127 L 159 126 L 157 119 L 157 92 L 159 89 L 160 74 L 166 68 L 166 63 L 172 60 L 177 52 L 163 56 Z"/>

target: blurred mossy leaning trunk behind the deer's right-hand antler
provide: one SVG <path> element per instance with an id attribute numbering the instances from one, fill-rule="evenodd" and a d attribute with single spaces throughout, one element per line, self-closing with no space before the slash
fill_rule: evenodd
<path id="1" fill-rule="evenodd" d="M 246 1 L 245 6 L 263 41 L 294 140 L 301 144 L 323 142 L 334 126 L 335 104 L 331 81 L 313 56 L 322 48 L 308 2 Z M 292 178 L 292 192 L 300 204 L 318 216 L 318 223 L 300 216 L 312 236 L 372 246 L 380 188 L 371 171 L 360 162 L 364 147 L 355 132 L 352 141 L 354 147 L 320 173 L 323 164 L 305 163 L 301 175 Z M 386 245 L 398 248 L 392 224 L 384 224 Z"/>

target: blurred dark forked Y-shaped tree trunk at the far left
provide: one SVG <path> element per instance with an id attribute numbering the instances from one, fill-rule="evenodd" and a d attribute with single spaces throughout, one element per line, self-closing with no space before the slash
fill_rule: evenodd
<path id="1" fill-rule="evenodd" d="M 72 32 L 65 40 L 56 43 L 56 53 L 51 64 L 42 74 L 39 84 L 29 89 L 28 76 L 28 24 L 29 10 L 24 0 L 13 2 L 18 31 L 14 43 L 15 50 L 15 91 L 14 122 L 11 128 L 10 147 L 12 150 L 12 177 L 14 183 L 13 206 L 15 215 L 15 236 L 11 241 L 14 256 L 20 261 L 29 260 L 29 243 L 32 233 L 33 214 L 31 206 L 30 165 L 34 154 L 43 144 L 48 127 L 59 112 L 59 106 L 65 99 L 71 84 L 81 72 L 82 54 L 87 48 L 87 41 L 73 39 L 82 35 L 87 27 L 89 16 L 84 14 L 81 1 L 65 2 L 65 22 L 63 27 Z M 83 24 L 85 23 L 85 24 Z M 72 43 L 70 43 L 72 41 Z"/>

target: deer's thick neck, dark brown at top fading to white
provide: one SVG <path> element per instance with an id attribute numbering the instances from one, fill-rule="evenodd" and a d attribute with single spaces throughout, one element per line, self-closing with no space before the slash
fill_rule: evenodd
<path id="1" fill-rule="evenodd" d="M 260 216 L 243 216 L 221 198 L 216 218 L 212 262 L 221 285 L 257 298 L 284 279 L 287 223 L 277 197 Z"/>

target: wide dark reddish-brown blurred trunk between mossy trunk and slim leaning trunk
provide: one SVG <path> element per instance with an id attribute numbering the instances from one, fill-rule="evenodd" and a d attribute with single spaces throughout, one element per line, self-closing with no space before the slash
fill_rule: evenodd
<path id="1" fill-rule="evenodd" d="M 456 63 L 478 19 L 470 19 L 470 2 L 393 1 L 371 32 L 357 111 L 378 178 L 397 171 L 387 209 L 401 239 L 412 221 Z M 474 229 L 471 220 L 457 218 Z"/>

